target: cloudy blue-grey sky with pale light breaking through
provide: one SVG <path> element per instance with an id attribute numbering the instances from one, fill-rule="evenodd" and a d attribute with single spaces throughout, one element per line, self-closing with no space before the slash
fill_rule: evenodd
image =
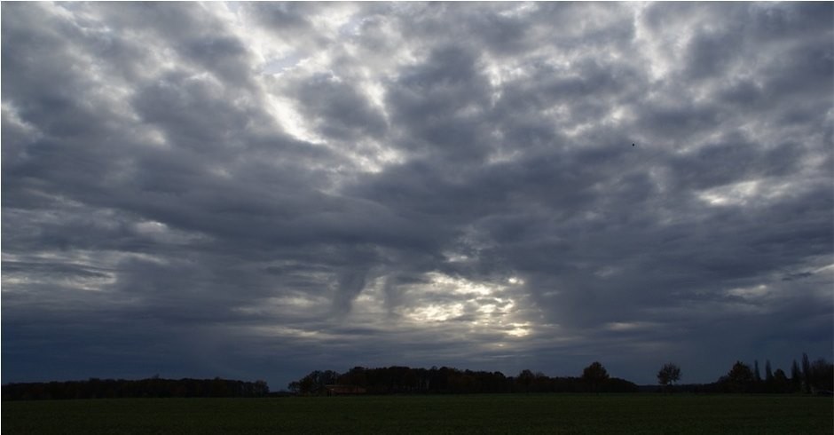
<path id="1" fill-rule="evenodd" d="M 2 382 L 834 352 L 834 4 L 2 4 Z"/>

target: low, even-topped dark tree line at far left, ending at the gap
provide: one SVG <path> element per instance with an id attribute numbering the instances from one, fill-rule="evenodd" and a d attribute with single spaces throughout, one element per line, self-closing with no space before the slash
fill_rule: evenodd
<path id="1" fill-rule="evenodd" d="M 269 392 L 264 381 L 244 382 L 219 377 L 161 379 L 153 376 L 138 381 L 90 378 L 86 381 L 3 385 L 4 400 L 264 397 Z"/>

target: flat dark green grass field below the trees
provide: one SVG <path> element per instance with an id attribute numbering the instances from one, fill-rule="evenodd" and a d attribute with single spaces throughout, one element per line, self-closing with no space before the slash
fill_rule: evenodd
<path id="1" fill-rule="evenodd" d="M 832 433 L 803 396 L 472 395 L 3 402 L 4 434 Z"/>

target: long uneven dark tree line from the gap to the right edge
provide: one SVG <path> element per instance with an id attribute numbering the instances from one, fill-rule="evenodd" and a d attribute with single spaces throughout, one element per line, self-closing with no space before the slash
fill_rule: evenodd
<path id="1" fill-rule="evenodd" d="M 727 375 L 710 384 L 678 384 L 681 367 L 666 363 L 657 372 L 657 387 L 638 386 L 625 379 L 611 377 L 598 361 L 582 371 L 581 376 L 550 377 L 541 372 L 522 370 L 517 376 L 501 372 L 460 370 L 457 368 L 351 368 L 346 373 L 314 370 L 287 385 L 299 395 L 328 394 L 409 394 L 409 393 L 502 393 L 502 392 L 704 392 L 704 393 L 824 393 L 834 392 L 834 365 L 824 359 L 808 359 L 802 354 L 801 365 L 794 360 L 789 377 L 781 368 L 775 370 L 767 360 L 764 376 L 759 361 L 750 366 L 736 361 Z"/>

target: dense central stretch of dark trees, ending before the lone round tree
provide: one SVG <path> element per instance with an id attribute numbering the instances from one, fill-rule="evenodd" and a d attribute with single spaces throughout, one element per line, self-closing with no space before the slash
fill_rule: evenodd
<path id="1" fill-rule="evenodd" d="M 346 373 L 314 370 L 290 383 L 290 392 L 300 395 L 331 393 L 368 394 L 446 394 L 503 392 L 636 392 L 637 385 L 609 376 L 594 362 L 582 376 L 549 377 L 523 370 L 517 376 L 501 372 L 460 370 L 458 368 L 355 367 Z"/>

